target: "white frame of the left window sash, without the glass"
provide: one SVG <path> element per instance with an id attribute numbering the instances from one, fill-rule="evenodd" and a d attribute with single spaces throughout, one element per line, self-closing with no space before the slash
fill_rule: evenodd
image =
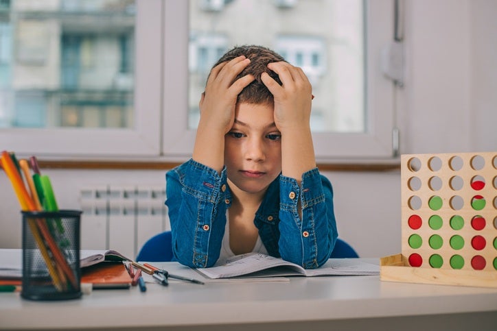
<path id="1" fill-rule="evenodd" d="M 163 1 L 136 2 L 135 127 L 0 129 L 3 149 L 43 158 L 157 157 L 161 153 Z"/>

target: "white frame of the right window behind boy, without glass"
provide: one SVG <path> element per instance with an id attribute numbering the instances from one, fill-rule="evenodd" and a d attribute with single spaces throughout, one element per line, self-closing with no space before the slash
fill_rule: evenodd
<path id="1" fill-rule="evenodd" d="M 382 49 L 393 38 L 393 0 L 365 0 L 367 33 L 367 132 L 313 132 L 317 162 L 384 162 L 395 158 L 394 85 L 381 68 Z M 195 130 L 187 129 L 188 1 L 165 2 L 163 155 L 191 156 Z M 374 27 L 374 28 L 373 28 Z M 200 99 L 200 96 L 199 96 Z M 330 143 L 333 142 L 333 143 Z"/>

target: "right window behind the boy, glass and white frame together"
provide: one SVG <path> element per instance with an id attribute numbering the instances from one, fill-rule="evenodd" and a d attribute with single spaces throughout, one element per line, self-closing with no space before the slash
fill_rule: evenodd
<path id="1" fill-rule="evenodd" d="M 320 162 L 393 156 L 393 84 L 380 70 L 382 48 L 393 36 L 393 1 L 232 0 L 216 1 L 216 11 L 205 3 L 165 3 L 165 155 L 181 157 L 193 149 L 206 67 L 219 58 L 203 49 L 211 62 L 202 63 L 200 75 L 200 46 L 223 53 L 258 44 L 275 49 L 310 78 Z M 211 40 L 200 45 L 198 36 Z"/>

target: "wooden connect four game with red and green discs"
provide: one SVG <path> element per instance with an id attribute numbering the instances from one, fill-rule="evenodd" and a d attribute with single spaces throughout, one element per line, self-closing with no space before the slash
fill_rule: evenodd
<path id="1" fill-rule="evenodd" d="M 401 156 L 402 253 L 380 279 L 497 287 L 497 152 Z"/>

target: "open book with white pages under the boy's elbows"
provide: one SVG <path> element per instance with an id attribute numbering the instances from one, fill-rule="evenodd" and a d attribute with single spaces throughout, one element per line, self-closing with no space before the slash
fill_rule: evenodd
<path id="1" fill-rule="evenodd" d="M 292 262 L 261 253 L 234 256 L 224 265 L 196 269 L 210 279 L 235 277 L 379 275 L 380 266 L 357 258 L 330 258 L 317 269 L 304 269 Z"/>

